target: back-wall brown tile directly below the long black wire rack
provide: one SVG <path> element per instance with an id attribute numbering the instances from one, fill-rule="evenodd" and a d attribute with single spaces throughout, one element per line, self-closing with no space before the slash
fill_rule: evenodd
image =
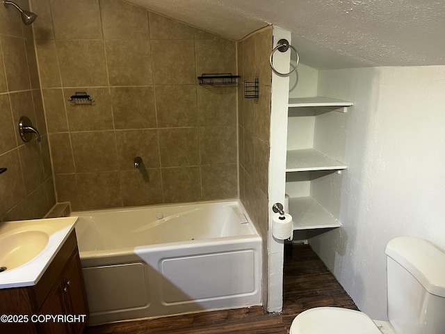
<path id="1" fill-rule="evenodd" d="M 199 125 L 236 124 L 236 88 L 197 87 Z"/>

